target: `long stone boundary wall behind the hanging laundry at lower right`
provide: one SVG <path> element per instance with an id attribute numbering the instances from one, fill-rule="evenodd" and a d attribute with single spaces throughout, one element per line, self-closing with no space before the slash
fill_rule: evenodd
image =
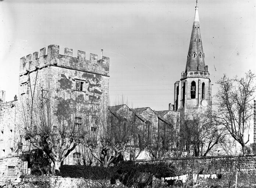
<path id="1" fill-rule="evenodd" d="M 200 156 L 162 160 L 136 160 L 138 163 L 167 162 L 178 168 L 180 175 L 217 174 L 216 179 L 199 178 L 201 186 L 234 187 L 238 174 L 238 187 L 256 187 L 256 154 L 239 156 Z"/>

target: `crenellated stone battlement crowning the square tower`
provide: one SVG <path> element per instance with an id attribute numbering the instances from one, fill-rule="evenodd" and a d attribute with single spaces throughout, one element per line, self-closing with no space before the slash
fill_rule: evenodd
<path id="1" fill-rule="evenodd" d="M 90 54 L 90 59 L 85 59 L 84 51 L 77 51 L 77 57 L 73 57 L 72 48 L 64 48 L 64 55 L 59 54 L 60 47 L 51 44 L 47 48 L 40 49 L 20 59 L 19 72 L 24 75 L 28 72 L 41 69 L 46 66 L 60 66 L 78 71 L 93 72 L 100 75 L 109 75 L 109 57 L 102 56 L 98 59 L 97 54 Z"/>

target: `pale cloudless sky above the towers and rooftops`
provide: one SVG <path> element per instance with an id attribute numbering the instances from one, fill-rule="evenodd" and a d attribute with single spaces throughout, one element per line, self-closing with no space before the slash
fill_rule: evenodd
<path id="1" fill-rule="evenodd" d="M 50 44 L 110 57 L 110 103 L 167 110 L 185 71 L 195 0 L 0 1 L 0 90 L 18 94 L 19 59 Z M 198 0 L 213 95 L 224 74 L 256 73 L 256 1 Z"/>

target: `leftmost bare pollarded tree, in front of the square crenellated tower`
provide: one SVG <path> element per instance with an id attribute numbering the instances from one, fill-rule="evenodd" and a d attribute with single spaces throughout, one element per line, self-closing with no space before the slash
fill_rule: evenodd
<path id="1" fill-rule="evenodd" d="M 45 152 L 53 163 L 53 173 L 82 141 L 78 124 L 78 101 L 46 95 L 33 96 L 33 102 L 21 100 L 25 139 L 32 148 Z"/>

